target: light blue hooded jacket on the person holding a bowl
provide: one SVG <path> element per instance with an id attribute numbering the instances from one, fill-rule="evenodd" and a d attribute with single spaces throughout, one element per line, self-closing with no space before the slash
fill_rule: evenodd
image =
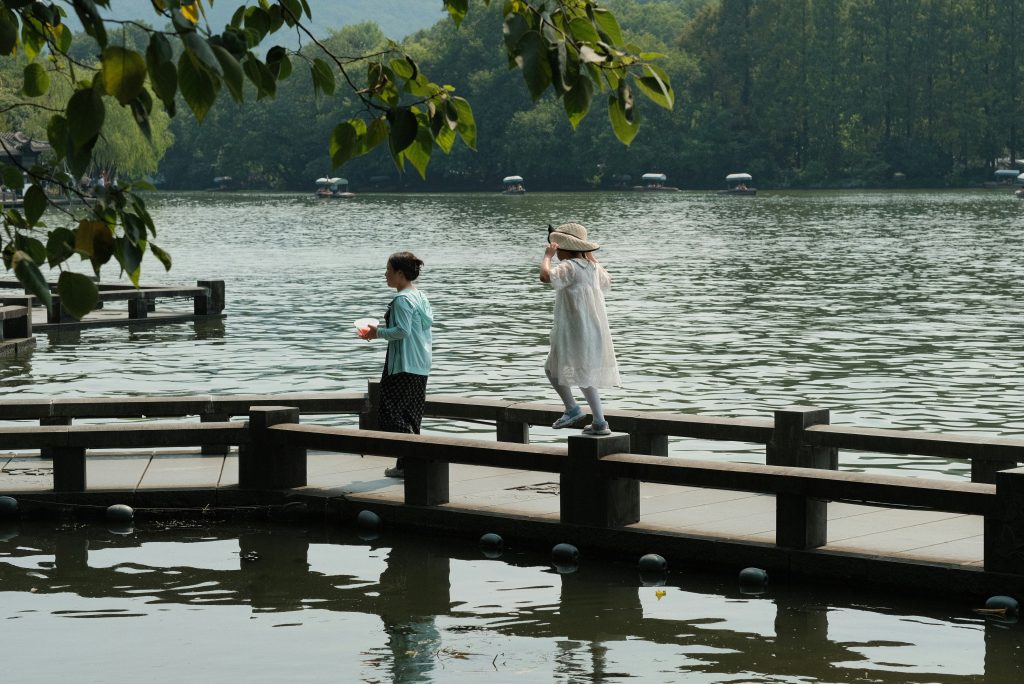
<path id="1" fill-rule="evenodd" d="M 391 300 L 391 325 L 377 329 L 377 337 L 387 340 L 387 374 L 430 375 L 430 326 L 434 312 L 426 295 L 416 288 L 400 291 Z"/>

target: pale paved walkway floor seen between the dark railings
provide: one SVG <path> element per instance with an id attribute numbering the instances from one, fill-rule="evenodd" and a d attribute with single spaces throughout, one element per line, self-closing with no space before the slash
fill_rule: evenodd
<path id="1" fill-rule="evenodd" d="M 384 477 L 393 459 L 316 452 L 307 459 L 308 484 L 296 494 L 349 505 L 403 502 L 401 480 Z M 117 493 L 120 501 L 137 507 L 155 505 L 147 493 L 161 493 L 165 502 L 165 493 L 177 491 L 187 503 L 191 490 L 198 503 L 239 483 L 233 451 L 227 456 L 198 451 L 90 455 L 87 467 L 87 494 Z M 52 500 L 52 488 L 49 459 L 0 455 L 0 494 Z M 453 464 L 451 501 L 437 508 L 557 522 L 558 491 L 556 474 Z M 775 540 L 774 496 L 645 482 L 640 497 L 640 521 L 628 529 L 765 545 Z M 818 551 L 964 569 L 983 564 L 982 516 L 831 503 L 827 517 L 828 542 Z"/>

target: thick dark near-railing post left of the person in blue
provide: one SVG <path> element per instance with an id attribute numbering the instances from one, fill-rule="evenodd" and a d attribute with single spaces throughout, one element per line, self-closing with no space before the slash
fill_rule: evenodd
<path id="1" fill-rule="evenodd" d="M 298 423 L 293 407 L 249 409 L 249 443 L 239 450 L 239 486 L 243 489 L 287 489 L 306 484 L 306 450 L 290 446 L 270 427 Z"/>

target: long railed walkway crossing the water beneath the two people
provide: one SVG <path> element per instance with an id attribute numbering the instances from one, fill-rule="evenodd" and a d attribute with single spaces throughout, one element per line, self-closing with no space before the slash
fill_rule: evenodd
<path id="1" fill-rule="evenodd" d="M 528 426 L 560 407 L 433 395 L 426 415 L 493 420 L 499 440 L 402 435 L 365 429 L 375 392 L 0 401 L 0 420 L 41 423 L 0 428 L 0 444 L 20 452 L 0 456 L 0 494 L 28 515 L 298 502 L 339 521 L 370 509 L 442 533 L 659 553 L 675 568 L 1024 594 L 1024 440 L 830 426 L 827 412 L 793 409 L 773 421 L 616 412 L 609 437 L 532 445 Z M 302 424 L 300 412 L 357 414 L 362 428 Z M 119 420 L 73 424 L 86 418 Z M 665 458 L 670 436 L 763 443 L 766 464 Z M 976 481 L 843 472 L 840 447 L 952 455 L 972 461 Z M 384 477 L 396 456 L 403 481 Z"/>

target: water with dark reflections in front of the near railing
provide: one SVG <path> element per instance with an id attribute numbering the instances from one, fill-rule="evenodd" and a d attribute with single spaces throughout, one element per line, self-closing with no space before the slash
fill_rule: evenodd
<path id="1" fill-rule="evenodd" d="M 1020 627 L 969 605 L 921 612 L 787 587 L 752 597 L 687 572 L 642 587 L 635 568 L 599 559 L 558 574 L 532 551 L 487 560 L 472 543 L 368 545 L 336 528 L 32 525 L 0 540 L 8 681 L 113 672 L 100 660 L 115 645 L 122 678 L 173 664 L 202 681 L 1024 677 Z"/>

